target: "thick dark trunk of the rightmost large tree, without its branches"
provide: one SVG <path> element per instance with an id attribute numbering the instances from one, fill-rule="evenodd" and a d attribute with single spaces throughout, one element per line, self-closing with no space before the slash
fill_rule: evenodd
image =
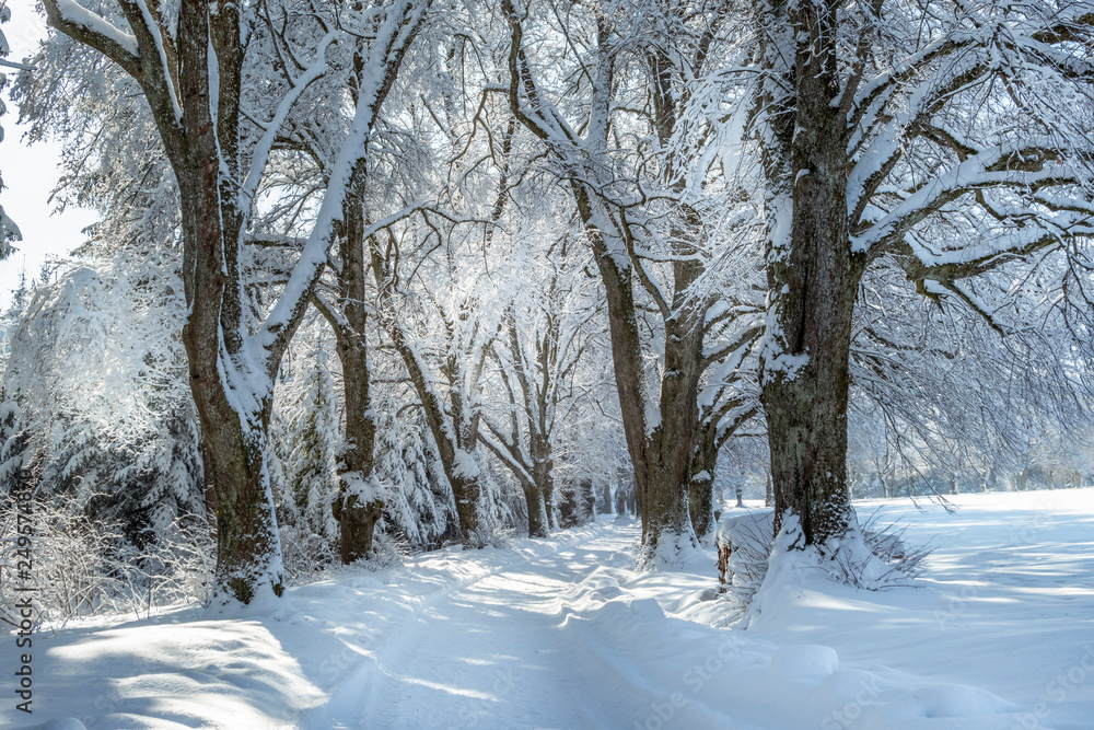
<path id="1" fill-rule="evenodd" d="M 765 112 L 771 115 L 764 162 L 771 188 L 768 321 L 775 326 L 761 352 L 761 402 L 775 525 L 778 533 L 793 515 L 803 536 L 799 546 L 816 545 L 824 553 L 854 525 L 847 403 L 861 264 L 852 257 L 848 233 L 846 112 L 831 103 L 840 93 L 838 28 L 835 7 L 826 2 L 772 2 L 766 12 L 769 27 L 779 28 L 766 38 L 768 66 L 780 68 L 777 57 L 789 49 L 794 58 L 783 79 L 793 89 L 791 111 Z M 761 104 L 785 91 L 769 93 Z"/>

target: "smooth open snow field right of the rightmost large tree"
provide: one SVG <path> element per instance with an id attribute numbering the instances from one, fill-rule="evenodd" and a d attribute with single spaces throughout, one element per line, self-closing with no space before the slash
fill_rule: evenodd
<path id="1" fill-rule="evenodd" d="M 747 633 L 822 642 L 847 664 L 988 690 L 1019 708 L 1008 728 L 1091 730 L 1094 489 L 948 499 L 954 513 L 928 500 L 856 503 L 860 515 L 880 508 L 881 522 L 906 526 L 908 544 L 934 545 L 916 588 L 862 592 L 802 580 Z"/>

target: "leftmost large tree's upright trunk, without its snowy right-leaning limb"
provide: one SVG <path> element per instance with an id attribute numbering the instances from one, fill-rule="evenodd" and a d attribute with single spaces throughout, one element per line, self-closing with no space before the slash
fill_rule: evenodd
<path id="1" fill-rule="evenodd" d="M 189 305 L 183 344 L 206 474 L 216 496 L 213 600 L 249 603 L 266 592 L 281 595 L 284 578 L 266 468 L 272 382 L 268 373 L 253 372 L 243 357 L 243 211 L 233 176 L 238 165 L 243 43 L 238 10 L 225 7 L 221 13 L 211 23 L 205 5 L 181 5 L 178 54 L 187 61 L 179 71 L 182 118 L 167 116 L 166 108 L 154 116 L 182 205 L 183 281 Z M 217 69 L 216 85 L 210 68 Z M 156 77 L 149 72 L 147 78 Z M 155 100 L 167 106 L 163 92 L 146 86 L 153 109 Z"/>

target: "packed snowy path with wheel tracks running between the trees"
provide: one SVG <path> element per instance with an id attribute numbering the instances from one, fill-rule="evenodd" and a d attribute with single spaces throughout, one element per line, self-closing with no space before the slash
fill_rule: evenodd
<path id="1" fill-rule="evenodd" d="M 606 727 L 627 708 L 590 696 L 560 595 L 632 541 L 609 533 L 427 599 L 302 728 Z M 633 708 L 631 708 L 632 711 Z"/>

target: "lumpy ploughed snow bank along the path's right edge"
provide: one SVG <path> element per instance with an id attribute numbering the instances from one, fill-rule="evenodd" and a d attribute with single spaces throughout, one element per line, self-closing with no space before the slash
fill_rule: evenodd
<path id="1" fill-rule="evenodd" d="M 705 567 L 712 575 L 712 557 Z M 677 617 L 721 617 L 709 584 L 691 572 L 602 568 L 560 599 L 587 682 L 642 710 L 618 727 L 987 730 L 1020 719 L 1020 707 L 985 690 L 883 663 L 843 665 L 823 642 L 776 642 Z"/>

